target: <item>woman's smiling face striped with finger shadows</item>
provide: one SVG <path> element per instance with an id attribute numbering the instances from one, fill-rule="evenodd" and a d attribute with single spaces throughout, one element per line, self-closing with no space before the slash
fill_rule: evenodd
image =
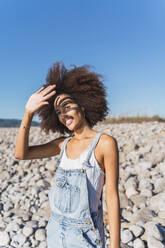
<path id="1" fill-rule="evenodd" d="M 54 109 L 59 121 L 69 130 L 76 129 L 85 119 L 81 107 L 67 94 L 57 96 Z"/>

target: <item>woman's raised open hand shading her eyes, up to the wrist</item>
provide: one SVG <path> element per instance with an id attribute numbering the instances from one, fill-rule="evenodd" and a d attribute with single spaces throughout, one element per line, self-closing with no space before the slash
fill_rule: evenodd
<path id="1" fill-rule="evenodd" d="M 38 91 L 31 95 L 26 103 L 25 109 L 29 114 L 34 114 L 42 106 L 49 104 L 48 100 L 50 97 L 55 95 L 56 91 L 53 90 L 56 87 L 55 84 L 49 85 L 46 88 L 41 87 Z M 53 90 L 53 91 L 52 91 Z"/>

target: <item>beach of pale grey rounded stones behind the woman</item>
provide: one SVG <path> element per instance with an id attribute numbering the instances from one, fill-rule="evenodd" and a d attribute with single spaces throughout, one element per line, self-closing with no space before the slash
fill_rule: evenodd
<path id="1" fill-rule="evenodd" d="M 165 247 L 165 123 L 99 124 L 118 142 L 121 248 Z M 0 128 L 0 248 L 46 248 L 57 157 L 17 160 L 18 128 Z M 30 145 L 58 137 L 30 129 Z M 106 247 L 110 236 L 103 188 Z"/>

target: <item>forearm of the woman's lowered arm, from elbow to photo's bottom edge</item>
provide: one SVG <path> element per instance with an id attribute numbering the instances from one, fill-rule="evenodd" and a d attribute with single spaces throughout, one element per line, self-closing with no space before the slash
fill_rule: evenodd
<path id="1" fill-rule="evenodd" d="M 119 196 L 114 194 L 106 200 L 110 227 L 110 247 L 120 248 L 120 202 Z"/>

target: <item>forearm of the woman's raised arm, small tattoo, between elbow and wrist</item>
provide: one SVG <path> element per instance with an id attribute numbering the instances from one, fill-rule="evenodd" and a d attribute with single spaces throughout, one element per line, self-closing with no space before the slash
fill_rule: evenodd
<path id="1" fill-rule="evenodd" d="M 24 159 L 25 154 L 28 151 L 29 146 L 29 130 L 33 119 L 33 114 L 25 111 L 22 119 L 16 140 L 15 157 L 18 159 Z"/>

